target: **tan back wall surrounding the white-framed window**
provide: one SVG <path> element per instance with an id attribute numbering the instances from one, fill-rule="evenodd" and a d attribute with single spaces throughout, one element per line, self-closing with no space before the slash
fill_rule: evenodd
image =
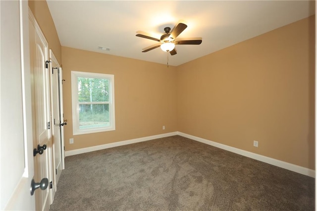
<path id="1" fill-rule="evenodd" d="M 177 131 L 176 67 L 67 47 L 62 60 L 66 151 Z M 115 131 L 73 136 L 71 70 L 114 75 Z"/>

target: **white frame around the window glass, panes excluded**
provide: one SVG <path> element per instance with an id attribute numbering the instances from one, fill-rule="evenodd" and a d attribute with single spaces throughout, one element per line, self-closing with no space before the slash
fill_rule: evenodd
<path id="1" fill-rule="evenodd" d="M 109 80 L 109 126 L 79 128 L 79 102 L 78 102 L 78 77 L 100 78 Z M 114 75 L 103 73 L 91 73 L 81 71 L 71 71 L 71 98 L 72 98 L 72 116 L 73 116 L 73 135 L 99 133 L 115 130 L 114 117 Z"/>

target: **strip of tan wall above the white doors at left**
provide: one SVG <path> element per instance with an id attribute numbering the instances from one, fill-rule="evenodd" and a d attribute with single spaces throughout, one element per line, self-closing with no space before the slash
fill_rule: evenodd
<path id="1" fill-rule="evenodd" d="M 29 0 L 28 4 L 49 43 L 49 48 L 52 49 L 58 63 L 61 64 L 61 46 L 46 0 Z"/>

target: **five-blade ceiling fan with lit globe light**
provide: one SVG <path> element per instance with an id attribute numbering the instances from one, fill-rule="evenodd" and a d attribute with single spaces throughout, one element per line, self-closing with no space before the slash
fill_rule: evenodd
<path id="1" fill-rule="evenodd" d="M 141 31 L 137 31 L 136 36 L 159 42 L 159 44 L 142 49 L 142 52 L 148 52 L 160 47 L 162 51 L 175 55 L 177 53 L 175 45 L 200 45 L 202 43 L 201 37 L 177 39 L 178 35 L 186 28 L 187 25 L 185 23 L 179 22 L 172 30 L 170 30 L 170 27 L 165 27 L 165 33 L 160 37 L 160 39 L 151 37 L 147 33 Z"/>

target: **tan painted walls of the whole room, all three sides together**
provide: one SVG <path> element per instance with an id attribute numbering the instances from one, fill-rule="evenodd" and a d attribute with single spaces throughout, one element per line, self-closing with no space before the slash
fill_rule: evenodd
<path id="1" fill-rule="evenodd" d="M 47 2 L 29 7 L 63 66 L 66 151 L 181 131 L 315 169 L 315 16 L 167 68 L 61 47 Z M 115 131 L 72 135 L 71 70 L 115 75 Z"/>

